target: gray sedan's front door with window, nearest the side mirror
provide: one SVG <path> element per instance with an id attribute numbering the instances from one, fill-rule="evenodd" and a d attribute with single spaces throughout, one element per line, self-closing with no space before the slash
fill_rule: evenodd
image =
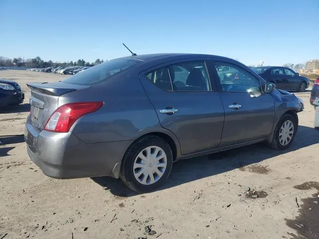
<path id="1" fill-rule="evenodd" d="M 220 146 L 267 137 L 275 119 L 272 95 L 263 93 L 259 79 L 240 65 L 226 61 L 215 61 L 213 65 L 225 110 Z M 234 80 L 220 77 L 225 74 L 235 75 Z"/>

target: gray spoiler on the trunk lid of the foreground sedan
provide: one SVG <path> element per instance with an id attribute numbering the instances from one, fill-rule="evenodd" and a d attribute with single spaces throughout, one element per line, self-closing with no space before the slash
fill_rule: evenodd
<path id="1" fill-rule="evenodd" d="M 64 88 L 64 84 L 60 84 L 61 86 L 57 86 L 56 83 L 28 83 L 26 84 L 28 88 L 30 88 L 32 91 L 50 95 L 50 96 L 61 96 L 66 93 L 76 91 L 76 89 L 73 88 Z M 69 84 L 67 84 L 69 86 Z"/>

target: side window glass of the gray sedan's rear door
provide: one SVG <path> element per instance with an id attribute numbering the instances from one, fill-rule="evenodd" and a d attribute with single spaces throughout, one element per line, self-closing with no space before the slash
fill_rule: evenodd
<path id="1" fill-rule="evenodd" d="M 146 77 L 166 91 L 210 91 L 204 61 L 177 63 L 150 72 Z"/>

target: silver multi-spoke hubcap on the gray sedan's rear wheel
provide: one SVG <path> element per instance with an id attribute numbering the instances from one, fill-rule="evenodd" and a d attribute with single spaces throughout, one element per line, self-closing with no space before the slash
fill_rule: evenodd
<path id="1" fill-rule="evenodd" d="M 167 166 L 167 156 L 159 146 L 143 149 L 135 158 L 133 173 L 135 179 L 143 185 L 151 185 L 160 180 Z"/>

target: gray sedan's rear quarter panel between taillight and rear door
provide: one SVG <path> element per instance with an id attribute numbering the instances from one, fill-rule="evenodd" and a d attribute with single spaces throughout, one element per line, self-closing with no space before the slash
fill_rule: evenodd
<path id="1" fill-rule="evenodd" d="M 72 133 L 84 142 L 134 140 L 151 132 L 163 132 L 178 144 L 174 135 L 160 126 L 137 72 L 123 73 L 89 89 L 65 94 L 59 98 L 59 106 L 86 101 L 103 101 L 104 106 L 71 127 Z"/>

